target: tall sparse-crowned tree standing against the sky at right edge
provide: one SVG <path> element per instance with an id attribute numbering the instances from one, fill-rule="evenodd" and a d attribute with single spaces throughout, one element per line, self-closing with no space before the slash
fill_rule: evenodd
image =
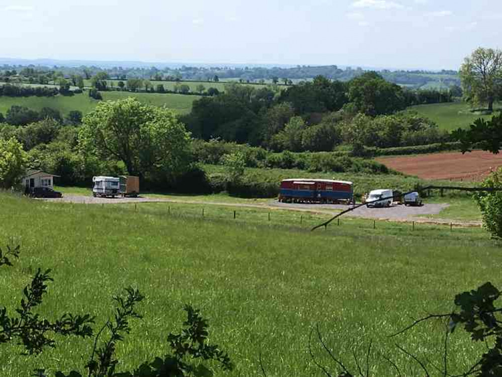
<path id="1" fill-rule="evenodd" d="M 472 104 L 493 103 L 502 98 L 502 50 L 476 49 L 460 67 L 464 97 Z"/>

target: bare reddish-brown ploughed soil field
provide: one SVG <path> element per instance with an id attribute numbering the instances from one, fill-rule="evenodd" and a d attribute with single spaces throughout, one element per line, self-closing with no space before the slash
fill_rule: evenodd
<path id="1" fill-rule="evenodd" d="M 490 169 L 502 166 L 502 154 L 484 151 L 380 157 L 376 160 L 394 170 L 423 179 L 456 181 L 480 181 L 490 173 Z"/>

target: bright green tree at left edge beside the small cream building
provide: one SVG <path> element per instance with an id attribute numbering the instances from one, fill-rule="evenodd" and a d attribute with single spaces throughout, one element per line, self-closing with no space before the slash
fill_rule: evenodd
<path id="1" fill-rule="evenodd" d="M 0 138 L 0 187 L 10 189 L 20 183 L 26 172 L 26 152 L 15 138 Z"/>

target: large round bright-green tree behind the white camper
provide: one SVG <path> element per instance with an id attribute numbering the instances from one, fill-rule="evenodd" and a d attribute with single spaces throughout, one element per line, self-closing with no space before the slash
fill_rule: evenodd
<path id="1" fill-rule="evenodd" d="M 80 142 L 102 158 L 122 160 L 129 174 L 154 169 L 182 171 L 188 162 L 189 134 L 173 111 L 136 99 L 101 102 L 83 119 Z"/>

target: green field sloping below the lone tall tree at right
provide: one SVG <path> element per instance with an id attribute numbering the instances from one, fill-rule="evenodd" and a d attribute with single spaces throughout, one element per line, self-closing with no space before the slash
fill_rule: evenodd
<path id="1" fill-rule="evenodd" d="M 489 119 L 490 116 L 482 116 L 471 112 L 469 104 L 454 102 L 449 104 L 432 104 L 411 106 L 408 110 L 416 111 L 420 115 L 432 119 L 442 130 L 456 130 L 459 127 L 467 127 L 476 119 L 482 117 Z"/>

